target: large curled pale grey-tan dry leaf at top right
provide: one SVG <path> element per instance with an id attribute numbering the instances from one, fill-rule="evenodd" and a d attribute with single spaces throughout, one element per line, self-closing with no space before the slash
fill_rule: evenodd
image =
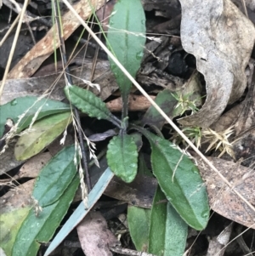
<path id="1" fill-rule="evenodd" d="M 245 67 L 252 53 L 255 29 L 230 0 L 180 3 L 182 44 L 185 51 L 195 55 L 197 70 L 205 77 L 207 100 L 201 111 L 178 122 L 207 128 L 246 88 Z"/>

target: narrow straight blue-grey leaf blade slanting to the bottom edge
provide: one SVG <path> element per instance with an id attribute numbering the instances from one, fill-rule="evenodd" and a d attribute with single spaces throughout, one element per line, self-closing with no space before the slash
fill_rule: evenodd
<path id="1" fill-rule="evenodd" d="M 88 194 L 88 208 L 85 208 L 84 202 L 80 203 L 74 213 L 71 214 L 71 217 L 65 222 L 65 225 L 63 225 L 61 230 L 59 230 L 59 233 L 54 237 L 54 240 L 50 243 L 47 251 L 44 253 L 44 256 L 48 256 L 52 253 L 71 232 L 71 230 L 73 230 L 82 221 L 82 219 L 84 219 L 90 209 L 93 208 L 94 204 L 99 200 L 99 197 L 102 196 L 113 176 L 114 174 L 111 172 L 111 169 L 107 168 L 99 178 L 96 185 L 94 185 L 92 191 Z"/>

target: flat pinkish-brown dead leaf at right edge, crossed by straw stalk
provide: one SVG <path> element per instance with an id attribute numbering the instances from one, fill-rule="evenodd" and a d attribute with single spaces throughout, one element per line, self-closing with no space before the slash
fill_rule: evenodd
<path id="1" fill-rule="evenodd" d="M 208 157 L 221 174 L 235 187 L 242 196 L 255 204 L 255 173 L 251 169 L 225 161 L 220 158 Z M 210 206 L 213 211 L 241 225 L 255 229 L 255 213 L 246 206 L 231 189 L 224 184 L 218 174 L 212 172 L 207 165 L 196 158 L 201 176 L 207 185 Z"/>

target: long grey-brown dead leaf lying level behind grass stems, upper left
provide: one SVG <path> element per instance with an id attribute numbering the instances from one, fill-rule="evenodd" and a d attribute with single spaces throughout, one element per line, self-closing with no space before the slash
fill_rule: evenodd
<path id="1" fill-rule="evenodd" d="M 82 79 L 89 80 L 92 70 L 92 60 L 82 60 L 82 68 L 75 68 L 71 70 L 73 75 L 73 82 L 75 84 L 84 84 Z M 49 72 L 52 73 L 53 71 Z M 50 74 L 42 77 L 31 77 L 22 79 L 8 79 L 3 89 L 2 104 L 5 104 L 15 98 L 22 96 L 41 96 L 47 90 L 50 92 L 50 98 L 52 100 L 63 100 L 65 99 L 64 76 L 59 77 L 59 74 Z M 77 78 L 79 77 L 79 78 Z M 100 92 L 96 88 L 91 90 L 99 96 L 102 100 L 108 98 L 117 87 L 114 75 L 110 70 L 110 63 L 108 60 L 98 60 L 94 73 L 94 83 L 100 85 Z M 54 86 L 53 86 L 54 85 Z"/>

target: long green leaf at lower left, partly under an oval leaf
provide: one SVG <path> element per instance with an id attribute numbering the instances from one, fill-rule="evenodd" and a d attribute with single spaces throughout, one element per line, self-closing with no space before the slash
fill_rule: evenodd
<path id="1" fill-rule="evenodd" d="M 50 177 L 48 178 L 50 179 Z M 16 236 L 11 256 L 37 255 L 39 242 L 48 242 L 54 235 L 73 200 L 78 185 L 77 175 L 57 202 L 42 208 L 42 212 L 38 216 L 31 209 Z"/>

